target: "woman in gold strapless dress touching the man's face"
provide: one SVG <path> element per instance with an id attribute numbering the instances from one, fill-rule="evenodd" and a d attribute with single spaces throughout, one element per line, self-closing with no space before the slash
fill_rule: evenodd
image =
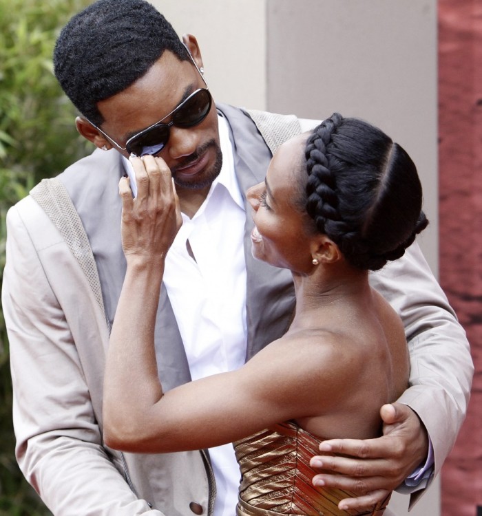
<path id="1" fill-rule="evenodd" d="M 136 200 L 120 184 L 127 274 L 105 374 L 106 444 L 170 452 L 235 442 L 238 515 L 346 514 L 337 505 L 347 493 L 315 488 L 309 460 L 321 440 L 379 436 L 379 407 L 407 387 L 404 328 L 368 270 L 401 257 L 428 224 L 415 165 L 379 129 L 339 114 L 283 144 L 247 195 L 253 255 L 293 275 L 289 331 L 237 371 L 164 394 L 154 323 L 180 213 L 163 160 L 143 161 L 149 180 Z"/>

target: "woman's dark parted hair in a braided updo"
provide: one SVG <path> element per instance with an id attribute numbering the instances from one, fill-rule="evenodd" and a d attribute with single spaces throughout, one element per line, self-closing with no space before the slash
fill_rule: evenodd
<path id="1" fill-rule="evenodd" d="M 306 142 L 306 211 L 345 259 L 378 270 L 426 228 L 415 164 L 373 125 L 335 113 Z"/>

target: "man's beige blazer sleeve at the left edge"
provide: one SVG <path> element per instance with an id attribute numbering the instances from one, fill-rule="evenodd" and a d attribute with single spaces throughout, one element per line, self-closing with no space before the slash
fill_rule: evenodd
<path id="1" fill-rule="evenodd" d="M 134 495 L 102 445 L 70 325 L 17 206 L 7 227 L 2 303 L 21 471 L 56 516 L 162 516 Z"/>

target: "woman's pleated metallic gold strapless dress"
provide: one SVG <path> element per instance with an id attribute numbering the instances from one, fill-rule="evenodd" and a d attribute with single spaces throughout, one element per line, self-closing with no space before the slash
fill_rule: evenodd
<path id="1" fill-rule="evenodd" d="M 315 487 L 310 459 L 321 439 L 294 422 L 276 424 L 234 443 L 241 470 L 237 516 L 338 516 L 341 499 L 356 496 L 341 489 Z M 357 513 L 381 516 L 383 508 Z"/>

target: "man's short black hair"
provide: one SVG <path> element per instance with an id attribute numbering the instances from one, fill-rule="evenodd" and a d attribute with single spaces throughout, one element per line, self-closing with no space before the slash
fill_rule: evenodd
<path id="1" fill-rule="evenodd" d="M 54 72 L 78 111 L 95 125 L 97 103 L 129 87 L 162 56 L 187 50 L 163 14 L 145 0 L 98 0 L 65 25 L 54 50 Z"/>

